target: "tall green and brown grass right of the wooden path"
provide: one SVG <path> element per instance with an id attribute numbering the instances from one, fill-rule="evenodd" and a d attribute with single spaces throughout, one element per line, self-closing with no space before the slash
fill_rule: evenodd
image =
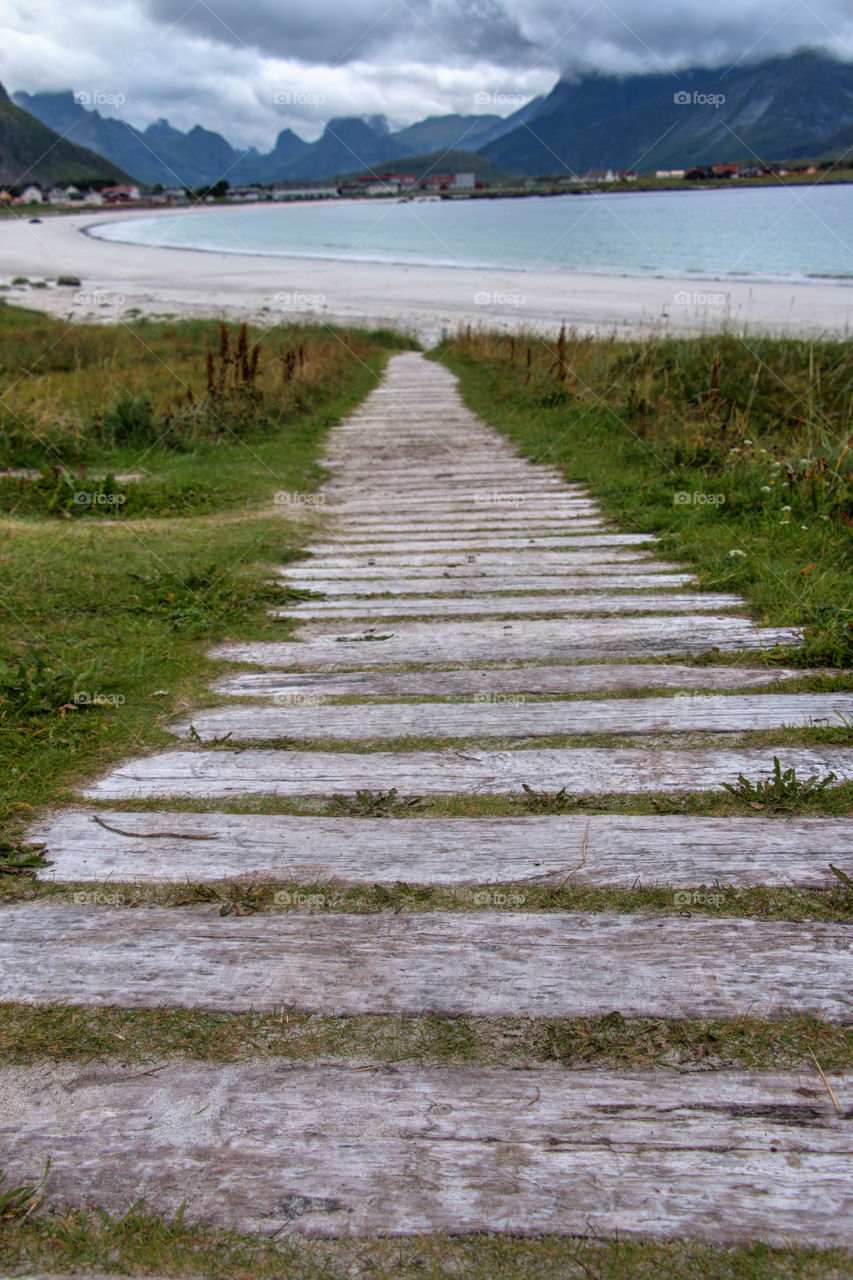
<path id="1" fill-rule="evenodd" d="M 435 356 L 475 412 L 624 529 L 660 534 L 703 589 L 804 626 L 775 660 L 853 662 L 849 343 L 466 332 Z"/>

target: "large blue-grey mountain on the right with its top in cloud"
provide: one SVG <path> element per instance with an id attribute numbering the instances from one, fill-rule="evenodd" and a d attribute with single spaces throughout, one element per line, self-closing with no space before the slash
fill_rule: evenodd
<path id="1" fill-rule="evenodd" d="M 815 155 L 850 123 L 853 64 L 804 50 L 733 70 L 564 78 L 529 128 L 478 150 L 529 175 L 689 168 Z"/>

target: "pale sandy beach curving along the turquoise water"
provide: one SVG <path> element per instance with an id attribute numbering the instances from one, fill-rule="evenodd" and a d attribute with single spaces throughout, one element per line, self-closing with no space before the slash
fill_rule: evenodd
<path id="1" fill-rule="evenodd" d="M 174 211 L 164 211 L 174 216 Z M 853 287 L 492 271 L 339 260 L 242 256 L 120 244 L 86 228 L 132 211 L 32 214 L 0 223 L 0 283 L 9 302 L 73 320 L 129 315 L 224 316 L 393 325 L 432 344 L 462 325 L 553 333 L 747 333 L 849 337 Z M 158 216 L 150 210 L 141 216 Z M 60 275 L 79 287 L 58 285 Z M 12 285 L 14 276 L 47 288 Z"/>

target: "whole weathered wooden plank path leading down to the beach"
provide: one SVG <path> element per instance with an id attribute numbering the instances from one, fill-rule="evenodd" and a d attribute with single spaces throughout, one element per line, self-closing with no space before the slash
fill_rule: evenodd
<path id="1" fill-rule="evenodd" d="M 767 772 L 772 751 L 730 745 L 731 733 L 853 714 L 849 694 L 785 691 L 795 668 L 690 664 L 712 648 L 798 637 L 757 626 L 736 596 L 692 590 L 688 570 L 656 557 L 654 539 L 612 529 L 578 485 L 519 458 L 465 408 L 451 374 L 419 355 L 393 357 L 382 387 L 332 433 L 329 466 L 330 532 L 282 571 L 319 596 L 286 611 L 302 620 L 298 639 L 220 646 L 219 658 L 245 664 L 218 682 L 220 708 L 175 724 L 175 749 L 110 771 L 86 788 L 88 805 L 35 829 L 60 882 L 296 882 L 314 886 L 319 909 L 6 908 L 0 998 L 849 1020 L 849 928 L 715 915 L 695 892 L 715 882 L 826 887 L 830 861 L 853 873 L 853 819 L 216 809 L 356 788 L 713 791 L 739 772 Z M 353 695 L 366 701 L 341 704 Z M 695 731 L 710 736 L 702 746 Z M 619 745 L 576 741 L 596 733 Z M 555 736 L 566 741 L 537 745 Z M 776 750 L 798 774 L 853 776 L 848 749 Z M 160 812 L 129 804 L 158 797 L 168 801 Z M 396 881 L 467 888 L 478 909 L 325 910 L 336 886 Z M 689 910 L 525 908 L 525 890 L 567 882 L 669 884 Z M 51 1192 L 69 1203 L 118 1210 L 145 1196 L 149 1208 L 186 1202 L 187 1219 L 265 1233 L 850 1239 L 849 1073 L 833 1078 L 836 1108 L 811 1064 L 772 1074 L 725 1064 L 701 1074 L 510 1070 L 389 1065 L 377 1053 L 284 1065 L 6 1068 L 1 1123 L 19 1137 L 10 1181 L 50 1156 Z"/>

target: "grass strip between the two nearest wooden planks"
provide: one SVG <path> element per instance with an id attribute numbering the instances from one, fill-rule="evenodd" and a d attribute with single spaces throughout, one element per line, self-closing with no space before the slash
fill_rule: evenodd
<path id="1" fill-rule="evenodd" d="M 207 1012 L 200 1009 L 87 1009 L 0 1004 L 0 1061 L 50 1059 L 126 1064 L 181 1055 L 204 1062 L 280 1057 L 295 1062 L 423 1062 L 438 1066 L 624 1068 L 652 1071 L 804 1070 L 811 1053 L 826 1071 L 853 1066 L 853 1027 L 812 1015 L 772 1020 L 622 1018 L 327 1016 Z"/>

